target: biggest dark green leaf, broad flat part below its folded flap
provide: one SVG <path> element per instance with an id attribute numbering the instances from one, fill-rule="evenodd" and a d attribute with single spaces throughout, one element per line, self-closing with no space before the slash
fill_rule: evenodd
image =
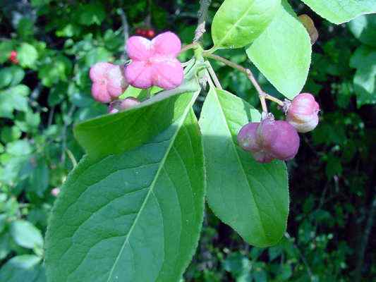
<path id="1" fill-rule="evenodd" d="M 123 143 L 121 152 L 99 161 L 84 158 L 68 176 L 47 231 L 51 281 L 181 278 L 197 246 L 204 209 L 202 144 L 191 110 L 197 95 L 149 142 L 134 149 L 132 142 Z M 138 127 L 143 125 L 140 120 Z M 134 135 L 121 124 L 114 129 L 126 140 Z"/>

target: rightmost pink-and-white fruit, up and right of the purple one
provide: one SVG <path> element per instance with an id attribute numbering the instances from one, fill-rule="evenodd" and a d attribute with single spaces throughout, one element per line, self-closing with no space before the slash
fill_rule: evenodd
<path id="1" fill-rule="evenodd" d="M 315 129 L 319 123 L 320 106 L 315 97 L 309 93 L 296 96 L 287 110 L 286 121 L 291 123 L 300 133 L 307 133 Z"/>

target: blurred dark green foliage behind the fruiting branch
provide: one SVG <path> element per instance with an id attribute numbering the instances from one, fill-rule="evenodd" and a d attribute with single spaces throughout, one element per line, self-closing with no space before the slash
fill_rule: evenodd
<path id="1" fill-rule="evenodd" d="M 173 30 L 184 43 L 191 42 L 196 2 L 1 1 L 0 281 L 45 281 L 40 262 L 54 192 L 83 156 L 72 125 L 107 110 L 90 96 L 90 66 L 97 61 L 123 63 L 127 25 L 129 35 L 137 27 L 157 33 Z M 212 1 L 210 18 L 221 3 Z M 296 13 L 313 18 L 320 32 L 304 90 L 315 94 L 322 112 L 319 127 L 303 137 L 298 157 L 288 163 L 289 233 L 275 247 L 250 247 L 206 209 L 198 252 L 185 281 L 376 278 L 376 241 L 371 237 L 376 209 L 376 16 L 337 26 L 301 1 L 290 3 Z M 204 37 L 208 48 L 209 38 Z M 18 63 L 9 60 L 12 50 Z M 243 51 L 219 53 L 252 68 L 262 87 L 278 96 Z M 245 75 L 214 66 L 227 90 L 257 106 Z M 200 107 L 198 103 L 196 113 Z"/>

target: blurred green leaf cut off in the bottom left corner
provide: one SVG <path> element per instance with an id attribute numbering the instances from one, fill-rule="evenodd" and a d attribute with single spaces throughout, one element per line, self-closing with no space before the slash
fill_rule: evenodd
<path id="1" fill-rule="evenodd" d="M 41 258 L 35 255 L 20 255 L 9 259 L 0 269 L 0 281 L 43 282 L 46 281 Z"/>

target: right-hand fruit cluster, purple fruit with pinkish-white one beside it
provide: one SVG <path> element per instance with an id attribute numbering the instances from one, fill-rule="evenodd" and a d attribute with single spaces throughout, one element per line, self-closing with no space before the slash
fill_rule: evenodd
<path id="1" fill-rule="evenodd" d="M 299 133 L 313 130 L 319 123 L 319 104 L 309 93 L 301 93 L 286 102 L 286 121 L 274 121 L 265 116 L 260 123 L 248 123 L 238 133 L 239 145 L 256 161 L 269 163 L 273 159 L 287 161 L 298 153 Z"/>

